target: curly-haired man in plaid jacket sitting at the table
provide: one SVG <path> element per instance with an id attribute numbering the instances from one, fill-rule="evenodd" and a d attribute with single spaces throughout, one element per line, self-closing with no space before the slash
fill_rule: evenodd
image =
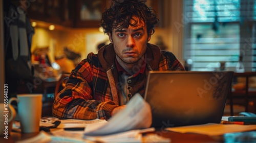
<path id="1" fill-rule="evenodd" d="M 158 19 L 144 3 L 113 0 L 101 19 L 111 43 L 96 55 L 90 53 L 72 70 L 66 88 L 54 101 L 54 116 L 108 119 L 135 93 L 144 97 L 148 71 L 184 70 L 172 53 L 148 43 Z"/>

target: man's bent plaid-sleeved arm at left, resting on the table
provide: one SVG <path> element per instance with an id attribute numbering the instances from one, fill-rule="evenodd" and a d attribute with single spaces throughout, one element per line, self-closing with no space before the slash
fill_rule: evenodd
<path id="1" fill-rule="evenodd" d="M 111 101 L 111 93 L 101 94 L 101 100 L 95 100 L 92 96 L 93 91 L 89 84 L 97 82 L 97 80 L 94 82 L 93 80 L 99 78 L 95 77 L 95 70 L 87 60 L 79 63 L 72 71 L 65 89 L 60 91 L 55 98 L 53 104 L 54 116 L 83 120 L 111 117 L 111 111 L 118 107 Z"/>

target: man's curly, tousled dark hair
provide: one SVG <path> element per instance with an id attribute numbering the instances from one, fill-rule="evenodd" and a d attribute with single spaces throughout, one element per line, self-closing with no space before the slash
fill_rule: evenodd
<path id="1" fill-rule="evenodd" d="M 143 21 L 147 27 L 147 33 L 152 35 L 159 19 L 155 10 L 147 7 L 145 2 L 146 0 L 112 0 L 111 7 L 102 13 L 100 27 L 104 33 L 112 34 L 113 29 L 128 28 L 129 25 L 136 27 Z M 131 19 L 135 22 L 131 23 Z"/>

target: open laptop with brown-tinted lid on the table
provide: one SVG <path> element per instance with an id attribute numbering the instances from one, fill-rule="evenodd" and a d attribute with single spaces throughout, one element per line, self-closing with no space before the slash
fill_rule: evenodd
<path id="1" fill-rule="evenodd" d="M 144 99 L 152 127 L 220 123 L 233 71 L 150 71 Z"/>

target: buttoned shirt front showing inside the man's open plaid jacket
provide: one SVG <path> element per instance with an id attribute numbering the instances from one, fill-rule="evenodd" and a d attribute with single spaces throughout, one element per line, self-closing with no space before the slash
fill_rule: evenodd
<path id="1" fill-rule="evenodd" d="M 115 64 L 118 70 L 118 85 L 122 94 L 122 99 L 119 99 L 119 104 L 125 105 L 133 97 L 133 95 L 138 92 L 138 87 L 144 87 L 143 85 L 146 79 L 144 78 L 146 62 L 144 60 L 140 67 L 138 66 L 138 68 L 134 68 L 134 70 L 139 69 L 139 71 L 134 75 L 130 75 L 126 70 L 124 70 L 116 59 Z"/>

